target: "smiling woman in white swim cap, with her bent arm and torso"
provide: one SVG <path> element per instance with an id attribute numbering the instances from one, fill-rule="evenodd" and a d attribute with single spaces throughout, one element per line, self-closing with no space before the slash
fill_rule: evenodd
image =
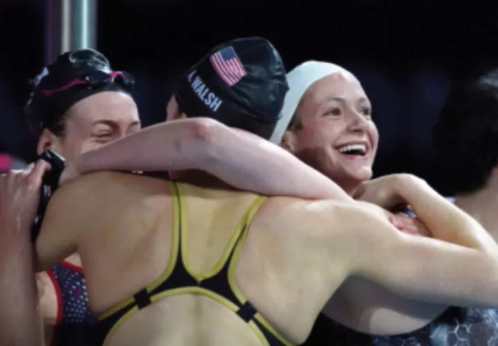
<path id="1" fill-rule="evenodd" d="M 277 127 L 285 128 L 286 122 L 290 122 L 282 140 L 282 145 L 286 149 L 329 176 L 351 196 L 360 199 L 362 203 L 366 201 L 385 208 L 378 210 L 379 212 L 389 214 L 389 210 L 400 203 L 411 206 L 415 215 L 423 221 L 427 229 L 423 232 L 418 229 L 416 232 L 413 230 L 407 232 L 406 228 L 398 228 L 404 233 L 431 235 L 435 239 L 454 244 L 461 244 L 459 239 L 469 239 L 468 234 L 463 235 L 465 232 L 463 228 L 457 230 L 451 222 L 448 228 L 443 226 L 445 221 L 453 219 L 453 217 L 447 219 L 443 216 L 443 210 L 459 213 L 461 210 L 448 203 L 425 181 L 403 174 L 392 174 L 368 181 L 371 178 L 371 167 L 378 146 L 378 131 L 371 118 L 369 100 L 360 82 L 349 71 L 326 62 L 305 62 L 288 73 L 287 77 L 290 91 L 284 103 L 282 124 Z M 409 188 L 405 189 L 403 186 Z M 343 219 L 347 218 L 343 216 Z M 389 215 L 389 219 L 394 226 L 398 226 L 398 221 L 403 221 L 398 219 L 394 222 L 393 215 Z M 403 217 L 403 219 L 413 220 L 409 217 Z M 472 218 L 468 220 L 475 222 Z M 355 219 L 351 218 L 347 222 L 353 223 Z M 376 232 L 371 232 L 370 225 L 365 226 L 365 230 L 367 233 L 361 237 Z M 461 231 L 463 232 L 460 233 Z M 493 240 L 485 232 L 482 236 L 482 242 L 474 239 L 472 242 L 476 243 L 471 246 L 483 249 L 487 249 L 489 244 L 494 246 Z M 356 242 L 360 242 L 361 237 L 356 237 Z M 417 236 L 414 239 L 418 241 L 421 238 Z M 477 242 L 479 245 L 476 245 Z M 382 244 L 382 246 L 376 246 L 376 244 Z M 382 253 L 385 251 L 382 250 L 384 245 L 384 239 L 378 239 L 378 242 L 369 243 L 369 250 L 365 252 L 381 249 L 380 253 Z M 385 277 L 387 268 L 391 268 L 399 259 L 397 255 L 392 255 L 393 251 L 385 251 L 385 253 L 391 258 L 386 266 L 379 267 L 382 268 L 380 273 L 383 277 Z M 420 251 L 414 251 L 414 255 L 417 259 L 425 257 Z M 396 260 L 393 261 L 393 258 Z M 416 267 L 420 268 L 419 262 L 412 263 L 417 263 Z M 453 268 L 457 267 L 452 261 L 448 263 Z M 457 273 L 460 277 L 457 277 L 456 284 L 459 280 L 470 282 L 468 278 L 461 275 L 460 270 Z M 475 268 L 470 270 L 475 271 Z M 396 277 L 400 277 L 403 273 L 405 269 L 396 273 Z M 444 275 L 439 276 L 434 275 L 432 271 L 423 271 L 416 281 L 420 283 L 423 277 L 431 276 L 439 281 L 439 278 Z M 443 281 L 445 280 L 441 280 Z M 441 282 L 436 285 L 441 286 Z M 326 327 L 315 328 L 315 333 L 312 333 L 305 345 L 319 343 L 325 345 L 324 340 L 315 342 L 313 334 L 322 339 L 322 336 L 318 336 L 321 334 L 319 329 L 326 330 L 327 336 L 331 338 L 331 343 L 334 345 L 401 345 L 412 343 L 413 340 L 417 341 L 417 345 L 418 340 L 423 345 L 430 345 L 432 341 L 434 345 L 448 344 L 450 340 L 446 338 L 448 330 L 439 329 L 442 331 L 443 338 L 436 340 L 439 338 L 435 336 L 438 332 L 434 333 L 432 327 L 423 328 L 436 320 L 448 308 L 447 306 L 418 302 L 413 296 L 406 299 L 391 292 L 371 282 L 370 278 L 361 278 L 359 275 L 349 277 L 335 291 L 323 310 L 326 316 L 335 322 L 329 322 Z M 446 325 L 446 322 L 443 325 Z M 395 336 L 390 337 L 390 335 Z"/>

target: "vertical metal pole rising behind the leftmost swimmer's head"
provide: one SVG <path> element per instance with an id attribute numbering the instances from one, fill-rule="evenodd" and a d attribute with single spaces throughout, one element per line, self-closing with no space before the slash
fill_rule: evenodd
<path id="1" fill-rule="evenodd" d="M 96 0 L 47 0 L 46 3 L 46 64 L 67 51 L 95 48 Z"/>

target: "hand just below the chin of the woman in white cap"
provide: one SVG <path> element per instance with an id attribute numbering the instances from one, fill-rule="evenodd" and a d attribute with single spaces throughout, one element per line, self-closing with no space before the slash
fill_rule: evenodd
<path id="1" fill-rule="evenodd" d="M 387 210 L 393 210 L 400 205 L 407 204 L 407 201 L 401 197 L 399 192 L 401 184 L 409 184 L 416 179 L 418 178 L 412 174 L 389 174 L 362 183 L 353 197 L 360 201 L 376 204 Z"/>

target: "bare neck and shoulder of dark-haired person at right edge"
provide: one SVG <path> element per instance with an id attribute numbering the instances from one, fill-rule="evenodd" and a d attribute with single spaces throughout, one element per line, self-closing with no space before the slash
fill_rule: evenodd
<path id="1" fill-rule="evenodd" d="M 498 241 L 498 181 L 490 179 L 486 188 L 472 194 L 457 195 L 454 203 L 474 217 Z"/>

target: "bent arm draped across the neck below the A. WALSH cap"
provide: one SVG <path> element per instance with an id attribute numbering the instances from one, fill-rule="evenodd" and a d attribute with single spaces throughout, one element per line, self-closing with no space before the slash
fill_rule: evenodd
<path id="1" fill-rule="evenodd" d="M 165 122 L 82 154 L 68 163 L 62 183 L 99 170 L 192 169 L 261 194 L 353 201 L 337 184 L 286 150 L 209 118 Z"/>

